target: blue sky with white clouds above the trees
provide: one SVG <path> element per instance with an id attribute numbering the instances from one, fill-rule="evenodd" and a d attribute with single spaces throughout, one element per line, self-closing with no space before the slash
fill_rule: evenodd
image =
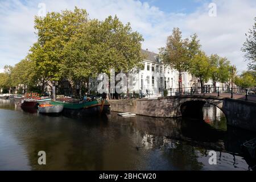
<path id="1" fill-rule="evenodd" d="M 143 49 L 156 53 L 166 45 L 172 29 L 179 27 L 183 38 L 196 33 L 208 55 L 227 57 L 238 73 L 247 69 L 241 47 L 254 24 L 255 0 L 0 0 L 0 72 L 4 65 L 26 57 L 36 42 L 34 16 L 42 14 L 44 5 L 46 12 L 77 6 L 86 9 L 90 19 L 117 15 L 143 35 Z"/>

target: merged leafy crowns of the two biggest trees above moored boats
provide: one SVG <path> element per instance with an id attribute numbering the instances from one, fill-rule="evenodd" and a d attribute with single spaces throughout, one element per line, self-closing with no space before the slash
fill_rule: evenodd
<path id="1" fill-rule="evenodd" d="M 35 17 L 38 41 L 28 59 L 35 64 L 39 81 L 66 78 L 73 88 L 77 82 L 110 68 L 128 72 L 142 67 L 142 35 L 115 16 L 104 21 L 89 20 L 86 10 L 48 13 Z"/>

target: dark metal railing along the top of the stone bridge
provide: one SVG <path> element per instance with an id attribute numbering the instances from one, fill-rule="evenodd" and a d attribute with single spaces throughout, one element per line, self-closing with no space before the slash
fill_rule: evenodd
<path id="1" fill-rule="evenodd" d="M 201 87 L 187 87 L 162 89 L 162 96 L 180 96 L 180 95 L 195 95 L 195 94 L 208 94 L 213 96 L 222 96 L 230 98 L 239 98 L 243 100 L 256 101 L 256 88 L 241 89 L 234 87 L 219 87 L 219 86 L 203 86 Z"/>

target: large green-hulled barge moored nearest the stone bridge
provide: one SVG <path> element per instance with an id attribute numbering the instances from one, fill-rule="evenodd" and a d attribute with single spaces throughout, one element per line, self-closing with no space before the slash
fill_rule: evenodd
<path id="1" fill-rule="evenodd" d="M 106 100 L 94 100 L 81 103 L 68 103 L 61 101 L 51 101 L 52 105 L 63 105 L 63 114 L 75 117 L 96 116 L 101 114 L 109 114 L 110 104 Z"/>

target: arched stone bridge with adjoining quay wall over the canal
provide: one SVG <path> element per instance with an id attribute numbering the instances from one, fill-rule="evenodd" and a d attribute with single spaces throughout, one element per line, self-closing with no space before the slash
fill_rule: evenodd
<path id="1" fill-rule="evenodd" d="M 217 106 L 226 116 L 227 124 L 256 131 L 256 102 L 209 95 L 172 96 L 142 100 L 110 101 L 111 110 L 131 112 L 150 117 L 189 117 L 203 119 L 205 103 Z"/>

